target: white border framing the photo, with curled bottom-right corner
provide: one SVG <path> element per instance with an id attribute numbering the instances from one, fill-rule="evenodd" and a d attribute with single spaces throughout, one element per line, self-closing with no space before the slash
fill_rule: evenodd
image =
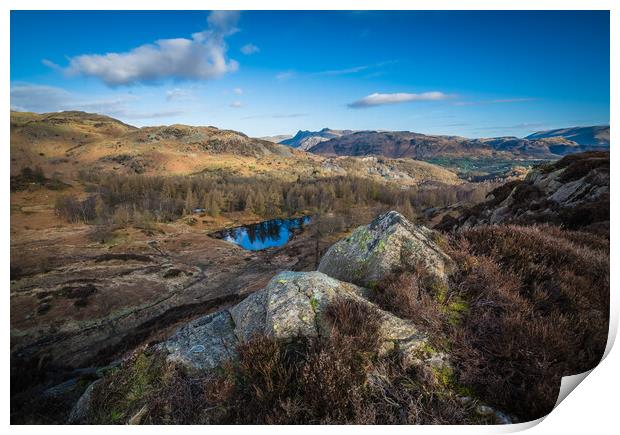
<path id="1" fill-rule="evenodd" d="M 2 68 L 2 86 L 0 92 L 2 100 L 4 101 L 3 113 L 5 122 L 1 123 L 2 128 L 2 162 L 5 165 L 5 179 L 4 189 L 2 190 L 2 198 L 0 204 L 4 209 L 2 214 L 2 223 L 4 226 L 3 234 L 3 246 L 1 261 L 2 279 L 4 283 L 9 281 L 9 246 L 10 246 L 10 234 L 9 234 L 9 219 L 10 219 L 10 192 L 8 183 L 8 174 L 10 171 L 10 156 L 9 156 L 9 142 L 10 131 L 9 123 L 7 122 L 10 116 L 10 72 L 9 72 L 9 51 L 10 51 L 10 13 L 11 9 L 18 10 L 36 10 L 36 9 L 78 9 L 78 10 L 127 10 L 127 9 L 157 9 L 157 10 L 217 10 L 217 9 L 240 9 L 240 10 L 268 10 L 268 9 L 288 9 L 288 10 L 388 10 L 388 9 L 412 9 L 412 10 L 555 10 L 555 9 L 570 9 L 570 10 L 611 10 L 611 100 L 610 100 L 610 124 L 614 126 L 611 129 L 611 142 L 618 144 L 619 135 L 616 133 L 615 126 L 618 122 L 618 110 L 620 108 L 620 98 L 618 98 L 618 78 L 620 78 L 620 69 L 618 68 L 618 41 L 620 41 L 620 35 L 618 32 L 620 20 L 619 20 L 619 7 L 618 2 L 613 1 L 575 1 L 575 0 L 503 0 L 500 2 L 493 2 L 489 0 L 477 0 L 477 1 L 459 1 L 459 0 L 437 0 L 437 1 L 420 1 L 420 0 L 314 0 L 312 2 L 296 2 L 292 4 L 290 2 L 275 1 L 275 0 L 263 0 L 260 2 L 252 2 L 249 0 L 215 0 L 215 1 L 191 1 L 191 0 L 149 0 L 149 1 L 134 1 L 128 2 L 127 0 L 106 0 L 105 2 L 84 2 L 79 0 L 56 0 L 54 2 L 46 2 L 44 0 L 4 0 L 2 2 L 3 14 L 1 16 L 0 26 L 2 31 L 2 55 L 4 59 L 4 67 Z M 527 29 L 524 29 L 527 31 Z M 570 32 L 570 29 L 567 29 Z M 561 64 L 558 65 L 561 68 Z M 614 145 L 615 146 L 615 145 Z M 612 148 L 612 155 L 615 154 Z M 616 158 L 611 159 L 612 173 L 615 174 L 619 169 L 619 164 Z M 617 181 L 615 175 L 612 176 L 612 190 L 616 191 Z M 617 204 L 612 202 L 611 207 L 611 221 L 612 221 L 612 251 L 611 259 L 617 258 L 617 243 L 616 243 L 616 231 L 613 223 L 616 221 L 618 215 Z M 615 288 L 616 274 L 612 267 L 611 275 L 611 325 L 610 325 L 610 337 L 607 346 L 606 353 L 611 349 L 613 340 L 618 326 L 618 295 Z M 5 288 L 3 313 L 5 315 L 5 327 L 2 334 L 4 358 L 2 360 L 1 373 L 3 374 L 5 394 L 2 396 L 2 410 L 4 422 L 9 425 L 10 421 L 10 391 L 9 391 L 9 319 L 10 308 L 8 303 L 8 285 Z M 532 433 L 611 433 L 617 430 L 616 414 L 618 394 L 618 374 L 616 367 L 620 367 L 618 351 L 612 352 L 601 364 L 593 370 L 592 374 L 588 376 L 588 380 L 582 385 L 579 385 L 577 392 L 569 395 L 557 409 L 555 409 L 546 419 L 544 423 L 539 424 L 533 429 Z M 543 420 L 543 419 L 541 419 Z M 517 430 L 526 429 L 528 427 L 535 426 L 537 422 L 530 422 L 522 425 L 513 425 L 508 427 L 480 427 L 480 426 L 391 426 L 385 428 L 385 430 L 391 433 L 409 433 L 410 431 L 423 432 L 423 433 L 505 433 L 514 432 Z M 28 426 L 12 426 L 10 430 L 16 433 L 30 433 L 34 431 L 44 430 L 46 433 L 62 433 L 63 435 L 69 433 L 82 432 L 85 428 L 82 427 L 68 427 L 68 426 L 47 426 L 45 428 L 28 427 Z M 269 434 L 285 432 L 297 432 L 297 433 L 310 433 L 314 430 L 312 427 L 273 427 L 273 426 L 253 426 L 246 428 L 242 426 L 219 426 L 219 427 L 202 427 L 192 426 L 178 428 L 187 433 L 204 433 L 204 431 L 216 431 L 218 433 L 228 434 L 237 431 L 249 430 L 253 433 Z M 107 427 L 89 427 L 87 429 L 93 434 L 103 434 L 109 429 Z M 161 433 L 170 430 L 177 430 L 168 427 L 119 427 L 119 431 L 138 431 L 149 433 Z M 360 433 L 375 433 L 382 431 L 381 427 L 353 427 L 353 426 L 338 426 L 338 427 L 321 427 L 321 431 L 353 431 L 355 434 Z"/>

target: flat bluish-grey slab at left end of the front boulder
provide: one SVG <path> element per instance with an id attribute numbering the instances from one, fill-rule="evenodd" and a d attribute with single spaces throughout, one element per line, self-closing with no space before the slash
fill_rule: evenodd
<path id="1" fill-rule="evenodd" d="M 162 344 L 168 361 L 191 370 L 210 370 L 236 356 L 237 337 L 228 311 L 218 311 L 181 327 Z"/>

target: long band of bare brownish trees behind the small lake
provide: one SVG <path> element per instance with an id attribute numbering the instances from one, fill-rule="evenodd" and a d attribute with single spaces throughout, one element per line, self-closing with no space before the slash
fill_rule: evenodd
<path id="1" fill-rule="evenodd" d="M 458 201 L 477 202 L 490 189 L 471 184 L 403 187 L 353 176 L 282 181 L 225 174 L 163 177 L 90 173 L 81 178 L 88 196 L 60 196 L 56 213 L 70 222 L 123 226 L 170 222 L 195 212 L 213 217 L 249 212 L 269 219 L 343 212 L 366 205 L 389 206 L 414 218 L 416 210 Z"/>

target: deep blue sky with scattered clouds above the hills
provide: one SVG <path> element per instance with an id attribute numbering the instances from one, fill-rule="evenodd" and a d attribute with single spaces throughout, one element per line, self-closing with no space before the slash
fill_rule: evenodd
<path id="1" fill-rule="evenodd" d="M 609 123 L 608 11 L 12 11 L 11 108 L 260 137 Z"/>

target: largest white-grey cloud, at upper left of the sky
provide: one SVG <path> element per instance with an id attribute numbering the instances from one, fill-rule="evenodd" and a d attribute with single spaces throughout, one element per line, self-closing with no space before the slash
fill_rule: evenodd
<path id="1" fill-rule="evenodd" d="M 68 75 L 96 77 L 108 86 L 149 83 L 163 79 L 207 80 L 236 71 L 226 56 L 225 37 L 235 33 L 239 13 L 214 11 L 208 27 L 191 39 L 160 39 L 123 53 L 83 54 L 69 59 Z M 47 65 L 53 65 L 50 61 Z"/>

